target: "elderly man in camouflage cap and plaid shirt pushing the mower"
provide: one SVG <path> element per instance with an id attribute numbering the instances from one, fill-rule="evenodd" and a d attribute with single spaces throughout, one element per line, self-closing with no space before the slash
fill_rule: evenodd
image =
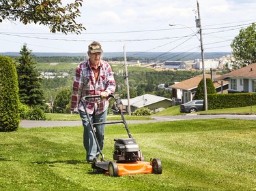
<path id="1" fill-rule="evenodd" d="M 113 71 L 109 63 L 101 60 L 102 47 L 97 41 L 92 42 L 88 46 L 89 59 L 80 63 L 76 68 L 74 76 L 71 111 L 79 110 L 81 120 L 83 122 L 83 145 L 86 150 L 86 160 L 88 163 L 99 156 L 94 135 L 89 126 L 91 123 L 106 122 L 106 115 L 109 107 L 109 94 L 115 92 L 115 79 Z M 81 103 L 81 98 L 87 95 L 100 95 L 101 99 L 86 99 L 85 106 L 89 119 L 85 114 L 85 109 Z M 105 125 L 99 124 L 96 126 L 96 137 L 100 145 L 100 150 L 103 150 L 104 145 L 104 130 Z"/>

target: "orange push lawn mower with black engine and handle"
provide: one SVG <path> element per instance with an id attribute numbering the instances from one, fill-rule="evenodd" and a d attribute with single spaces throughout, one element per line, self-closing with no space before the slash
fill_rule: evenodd
<path id="1" fill-rule="evenodd" d="M 112 177 L 117 177 L 121 175 L 132 175 L 132 174 L 146 174 L 162 173 L 162 164 L 159 158 L 150 159 L 150 162 L 146 162 L 143 158 L 141 150 L 139 150 L 139 145 L 132 138 L 126 120 L 124 119 L 124 114 L 119 107 L 119 101 L 115 98 L 113 94 L 109 94 L 109 98 L 115 99 L 115 110 L 121 115 L 122 120 L 116 122 L 104 122 L 104 123 L 91 123 L 89 121 L 89 126 L 96 140 L 98 152 L 101 158 L 94 158 L 91 163 L 91 168 L 94 173 L 106 173 Z M 86 111 L 85 100 L 86 99 L 100 99 L 100 95 L 85 96 L 81 99 L 83 107 L 85 108 L 85 114 L 89 118 L 89 114 Z M 96 139 L 96 133 L 94 131 L 94 126 L 98 124 L 124 124 L 124 128 L 128 133 L 128 138 L 126 139 L 114 139 L 114 152 L 113 160 L 104 160 L 104 155 L 102 150 L 100 150 L 100 145 Z"/>

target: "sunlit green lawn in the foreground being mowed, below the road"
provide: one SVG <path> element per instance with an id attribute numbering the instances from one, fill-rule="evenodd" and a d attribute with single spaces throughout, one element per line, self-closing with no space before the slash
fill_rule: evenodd
<path id="1" fill-rule="evenodd" d="M 19 128 L 0 133 L 0 190 L 256 190 L 256 121 L 186 120 L 131 124 L 145 160 L 160 158 L 162 175 L 109 177 L 85 162 L 80 126 Z M 104 156 L 113 139 L 106 126 Z"/>

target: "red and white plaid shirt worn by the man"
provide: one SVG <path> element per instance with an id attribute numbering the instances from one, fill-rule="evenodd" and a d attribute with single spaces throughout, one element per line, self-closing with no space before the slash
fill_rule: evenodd
<path id="1" fill-rule="evenodd" d="M 91 69 L 89 59 L 80 63 L 76 67 L 74 76 L 73 90 L 71 97 L 71 111 L 77 107 L 85 111 L 81 98 L 87 95 L 100 95 L 100 92 L 115 92 L 115 79 L 111 66 L 104 60 L 100 60 L 100 73 L 97 82 L 95 82 L 94 71 Z M 109 107 L 109 99 L 86 99 L 85 106 L 88 114 L 101 114 Z"/>

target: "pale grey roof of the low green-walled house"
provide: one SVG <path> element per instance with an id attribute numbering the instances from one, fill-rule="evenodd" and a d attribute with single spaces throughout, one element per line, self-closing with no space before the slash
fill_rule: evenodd
<path id="1" fill-rule="evenodd" d="M 168 99 L 166 97 L 159 97 L 152 94 L 143 94 L 142 96 L 134 97 L 130 99 L 130 105 L 138 108 L 146 107 L 147 105 L 152 105 L 153 103 L 158 103 L 159 101 L 163 101 L 163 100 L 172 101 L 171 99 Z M 123 105 L 128 105 L 127 99 L 121 99 L 121 101 Z"/>

